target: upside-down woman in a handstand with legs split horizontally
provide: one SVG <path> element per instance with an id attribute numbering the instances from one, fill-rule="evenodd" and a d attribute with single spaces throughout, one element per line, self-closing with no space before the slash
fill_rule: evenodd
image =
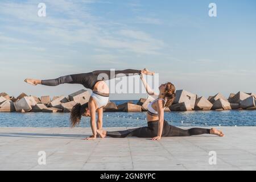
<path id="1" fill-rule="evenodd" d="M 144 73 L 146 75 L 154 75 L 154 73 L 149 72 L 147 69 L 135 70 L 126 69 L 123 71 L 93 71 L 90 73 L 81 73 L 76 75 L 61 76 L 56 79 L 51 80 L 35 80 L 27 78 L 24 81 L 32 85 L 47 85 L 56 86 L 60 84 L 82 84 L 85 88 L 91 89 L 92 94 L 89 98 L 89 102 L 81 105 L 76 104 L 70 115 L 71 125 L 75 127 L 79 125 L 81 117 L 90 117 L 90 126 L 92 128 L 93 135 L 86 140 L 96 139 L 96 130 L 102 129 L 102 117 L 103 117 L 103 107 L 108 104 L 109 101 L 109 87 L 104 80 L 110 80 L 115 77 L 139 75 Z M 96 129 L 96 112 L 98 113 L 97 119 L 97 129 Z"/>

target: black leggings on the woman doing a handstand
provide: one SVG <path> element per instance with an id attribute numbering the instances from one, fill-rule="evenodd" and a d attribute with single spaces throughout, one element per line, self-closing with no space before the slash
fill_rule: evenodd
<path id="1" fill-rule="evenodd" d="M 56 86 L 60 84 L 82 84 L 85 88 L 93 90 L 98 81 L 110 80 L 116 77 L 139 75 L 140 70 L 125 69 L 122 71 L 93 71 L 76 75 L 61 76 L 51 80 L 42 80 L 42 85 Z"/>

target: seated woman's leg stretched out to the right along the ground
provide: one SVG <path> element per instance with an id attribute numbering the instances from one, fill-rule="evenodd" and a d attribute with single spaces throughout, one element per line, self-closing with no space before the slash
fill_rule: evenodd
<path id="1" fill-rule="evenodd" d="M 203 135 L 203 134 L 212 134 L 218 135 L 219 137 L 224 137 L 222 131 L 217 129 L 202 129 L 202 128 L 192 128 L 188 130 L 180 129 L 179 127 L 171 126 L 170 133 L 167 137 L 189 137 L 192 135 Z"/>

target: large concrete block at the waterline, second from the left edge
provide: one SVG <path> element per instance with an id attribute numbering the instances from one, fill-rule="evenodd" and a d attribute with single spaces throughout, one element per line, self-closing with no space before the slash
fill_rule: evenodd
<path id="1" fill-rule="evenodd" d="M 32 106 L 36 105 L 36 101 L 33 97 L 22 97 L 20 100 L 14 102 L 14 107 L 17 112 L 22 111 L 22 109 L 26 112 L 32 110 Z"/>

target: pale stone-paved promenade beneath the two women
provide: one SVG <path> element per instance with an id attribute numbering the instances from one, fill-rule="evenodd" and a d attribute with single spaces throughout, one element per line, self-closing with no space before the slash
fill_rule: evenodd
<path id="1" fill-rule="evenodd" d="M 226 137 L 86 141 L 89 128 L 0 128 L 0 170 L 256 170 L 256 127 L 221 130 Z M 38 164 L 39 151 L 46 165 Z"/>

